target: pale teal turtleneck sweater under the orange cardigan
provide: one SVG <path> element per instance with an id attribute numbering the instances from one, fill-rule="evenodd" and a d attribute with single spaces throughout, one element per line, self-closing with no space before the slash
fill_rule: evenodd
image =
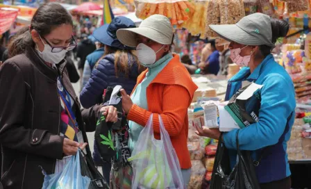
<path id="1" fill-rule="evenodd" d="M 146 73 L 146 77 L 142 81 L 142 83 L 138 84 L 135 91 L 131 95 L 131 99 L 134 104 L 137 106 L 140 106 L 140 108 L 144 108 L 145 110 L 148 110 L 148 104 L 146 99 L 146 88 L 148 85 L 155 79 L 155 76 L 157 76 L 162 69 L 169 63 L 169 61 L 173 58 L 173 55 L 171 53 L 167 54 L 166 56 L 163 56 L 155 62 L 153 65 L 148 66 L 148 72 Z M 133 151 L 135 147 L 135 143 L 138 140 L 138 137 L 140 136 L 140 132 L 142 129 L 144 129 L 144 126 L 141 126 L 140 124 L 137 124 L 135 122 L 128 122 L 130 126 L 130 138 L 128 140 L 128 147 Z"/>

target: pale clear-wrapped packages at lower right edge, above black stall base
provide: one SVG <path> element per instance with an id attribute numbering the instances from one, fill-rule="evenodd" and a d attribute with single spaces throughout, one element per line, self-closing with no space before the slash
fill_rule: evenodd
<path id="1" fill-rule="evenodd" d="M 291 137 L 287 142 L 289 161 L 311 160 L 311 114 L 296 119 L 292 127 Z"/>

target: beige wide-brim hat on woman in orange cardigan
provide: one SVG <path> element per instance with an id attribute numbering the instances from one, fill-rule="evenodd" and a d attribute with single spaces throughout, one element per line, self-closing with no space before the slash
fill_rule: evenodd
<path id="1" fill-rule="evenodd" d="M 167 17 L 152 15 L 144 19 L 138 28 L 122 28 L 117 31 L 118 40 L 128 47 L 137 47 L 136 35 L 142 35 L 160 44 L 171 44 L 173 28 Z"/>

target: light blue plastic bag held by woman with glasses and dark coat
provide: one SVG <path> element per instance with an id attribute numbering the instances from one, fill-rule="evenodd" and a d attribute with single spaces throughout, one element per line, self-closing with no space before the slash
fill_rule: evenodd
<path id="1" fill-rule="evenodd" d="M 80 150 L 80 149 L 79 149 Z M 45 174 L 42 189 L 76 189 L 89 188 L 91 179 L 82 176 L 80 165 L 80 153 L 72 156 L 62 172 L 57 174 Z"/>

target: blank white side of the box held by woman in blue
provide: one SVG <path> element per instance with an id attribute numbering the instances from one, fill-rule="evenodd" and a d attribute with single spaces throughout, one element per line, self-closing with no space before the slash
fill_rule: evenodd
<path id="1" fill-rule="evenodd" d="M 239 129 L 235 120 L 233 120 L 231 115 L 225 110 L 225 107 L 223 105 L 218 105 L 217 107 L 219 110 L 219 131 L 228 132 L 233 129 Z"/>

